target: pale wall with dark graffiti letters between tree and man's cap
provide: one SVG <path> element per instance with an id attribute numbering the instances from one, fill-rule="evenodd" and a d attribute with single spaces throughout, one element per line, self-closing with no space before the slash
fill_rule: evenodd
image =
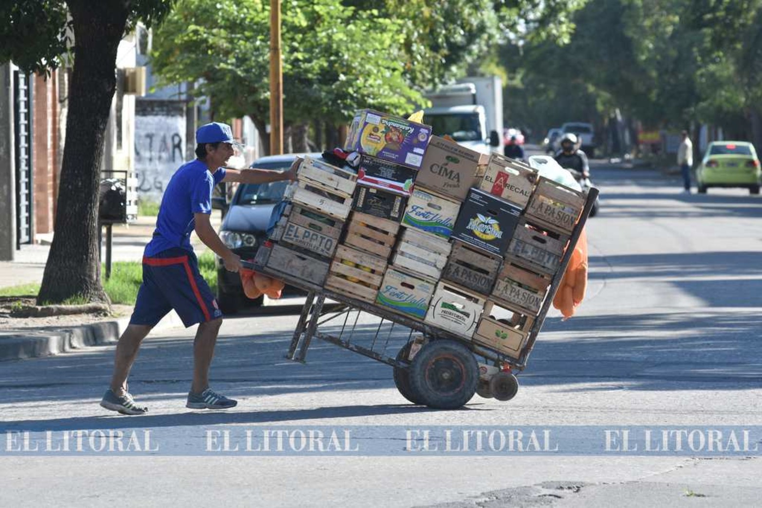
<path id="1" fill-rule="evenodd" d="M 135 171 L 138 195 L 160 201 L 185 161 L 185 103 L 136 101 Z"/>

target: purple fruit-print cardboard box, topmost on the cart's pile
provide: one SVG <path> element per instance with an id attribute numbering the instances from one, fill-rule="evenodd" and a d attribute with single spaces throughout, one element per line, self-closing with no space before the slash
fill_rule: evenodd
<path id="1" fill-rule="evenodd" d="M 352 120 L 344 149 L 421 168 L 431 126 L 374 110 L 360 110 Z"/>

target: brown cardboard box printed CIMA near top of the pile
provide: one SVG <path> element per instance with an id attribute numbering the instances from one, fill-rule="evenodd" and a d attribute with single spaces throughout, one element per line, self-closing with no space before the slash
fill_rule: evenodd
<path id="1" fill-rule="evenodd" d="M 463 201 L 469 188 L 478 187 L 481 183 L 487 161 L 486 154 L 439 136 L 431 136 L 415 183 Z"/>

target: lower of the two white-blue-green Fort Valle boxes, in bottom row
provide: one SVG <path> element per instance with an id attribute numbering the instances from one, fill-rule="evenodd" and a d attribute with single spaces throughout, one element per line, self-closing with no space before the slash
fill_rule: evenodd
<path id="1" fill-rule="evenodd" d="M 423 321 L 435 285 L 436 283 L 424 277 L 389 267 L 376 296 L 376 304 L 408 318 Z"/>

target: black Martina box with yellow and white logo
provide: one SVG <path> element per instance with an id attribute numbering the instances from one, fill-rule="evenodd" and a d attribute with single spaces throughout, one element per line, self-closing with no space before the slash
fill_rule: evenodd
<path id="1" fill-rule="evenodd" d="M 452 238 L 502 256 L 519 222 L 521 209 L 484 190 L 469 190 Z"/>

